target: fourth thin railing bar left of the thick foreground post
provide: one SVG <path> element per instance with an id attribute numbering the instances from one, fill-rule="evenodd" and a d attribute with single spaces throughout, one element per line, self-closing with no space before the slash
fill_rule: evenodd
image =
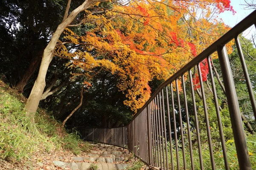
<path id="1" fill-rule="evenodd" d="M 186 123 L 187 123 L 188 136 L 189 136 L 191 169 L 194 170 L 195 168 L 194 168 L 194 159 L 193 159 L 193 150 L 192 150 L 192 142 L 191 142 L 190 123 L 189 123 L 189 111 L 188 111 L 188 104 L 186 99 L 186 87 L 185 87 L 184 75 L 182 75 L 182 85 L 183 85 L 184 105 L 185 105 L 185 112 L 186 112 Z"/>

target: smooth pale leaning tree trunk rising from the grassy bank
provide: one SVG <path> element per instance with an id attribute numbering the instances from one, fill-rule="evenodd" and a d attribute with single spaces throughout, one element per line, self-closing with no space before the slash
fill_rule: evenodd
<path id="1" fill-rule="evenodd" d="M 69 0 L 70 2 L 70 0 Z M 44 49 L 44 54 L 42 58 L 42 62 L 40 65 L 38 77 L 35 81 L 35 84 L 32 88 L 32 91 L 29 95 L 29 99 L 26 102 L 26 116 L 29 116 L 31 118 L 31 121 L 34 122 L 35 112 L 37 111 L 41 96 L 44 92 L 45 88 L 45 78 L 47 74 L 47 70 L 49 67 L 50 62 L 52 61 L 52 53 L 54 51 L 55 45 L 64 31 L 65 28 L 76 18 L 76 16 L 83 10 L 89 8 L 91 5 L 91 2 L 93 0 L 85 0 L 84 3 L 76 8 L 74 11 L 72 11 L 68 16 L 66 15 L 67 11 L 69 10 L 69 5 L 66 8 L 65 16 L 60 25 L 58 25 L 56 31 L 54 34 L 52 34 L 52 38 L 47 45 L 47 47 Z"/>

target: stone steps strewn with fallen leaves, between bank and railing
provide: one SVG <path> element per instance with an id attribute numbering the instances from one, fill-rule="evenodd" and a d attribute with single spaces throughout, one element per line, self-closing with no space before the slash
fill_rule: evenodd
<path id="1" fill-rule="evenodd" d="M 125 170 L 133 156 L 129 151 L 107 144 L 91 144 L 93 149 L 84 156 L 72 157 L 73 161 L 64 163 L 53 161 L 55 166 L 71 170 Z"/>

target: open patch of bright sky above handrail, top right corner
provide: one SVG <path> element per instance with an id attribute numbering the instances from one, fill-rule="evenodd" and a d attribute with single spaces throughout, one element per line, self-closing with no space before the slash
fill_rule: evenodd
<path id="1" fill-rule="evenodd" d="M 219 17 L 222 18 L 225 24 L 229 25 L 230 27 L 233 27 L 254 10 L 244 9 L 245 6 L 241 5 L 241 4 L 246 4 L 244 0 L 230 0 L 230 1 L 231 1 L 231 6 L 233 6 L 233 9 L 236 11 L 236 14 L 233 15 L 231 11 L 225 11 L 224 13 L 220 14 Z M 250 0 L 247 0 L 247 1 L 250 1 Z"/>

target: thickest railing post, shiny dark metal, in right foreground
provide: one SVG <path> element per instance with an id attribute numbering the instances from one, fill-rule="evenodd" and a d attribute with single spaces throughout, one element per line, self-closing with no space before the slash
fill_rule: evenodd
<path id="1" fill-rule="evenodd" d="M 252 170 L 244 134 L 244 127 L 241 120 L 239 103 L 236 95 L 235 83 L 225 46 L 218 46 L 218 58 L 221 65 L 239 167 L 240 170 Z"/>

